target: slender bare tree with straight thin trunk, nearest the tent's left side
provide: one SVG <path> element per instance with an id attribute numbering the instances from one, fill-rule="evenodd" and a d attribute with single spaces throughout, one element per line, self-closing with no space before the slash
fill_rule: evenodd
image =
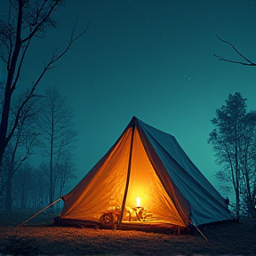
<path id="1" fill-rule="evenodd" d="M 37 125 L 44 132 L 44 144 L 50 148 L 50 204 L 53 202 L 60 165 L 75 148 L 76 132 L 73 130 L 73 111 L 57 88 L 48 88 L 40 105 Z"/>

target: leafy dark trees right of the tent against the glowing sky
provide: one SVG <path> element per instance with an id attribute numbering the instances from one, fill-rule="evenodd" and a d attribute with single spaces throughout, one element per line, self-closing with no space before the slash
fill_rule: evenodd
<path id="1" fill-rule="evenodd" d="M 216 162 L 223 166 L 218 176 L 230 180 L 236 195 L 236 219 L 239 219 L 241 202 L 246 200 L 253 212 L 255 198 L 255 142 L 256 111 L 246 113 L 246 99 L 241 93 L 229 94 L 226 105 L 216 110 L 212 119 L 215 126 L 209 143 L 216 152 Z"/>

